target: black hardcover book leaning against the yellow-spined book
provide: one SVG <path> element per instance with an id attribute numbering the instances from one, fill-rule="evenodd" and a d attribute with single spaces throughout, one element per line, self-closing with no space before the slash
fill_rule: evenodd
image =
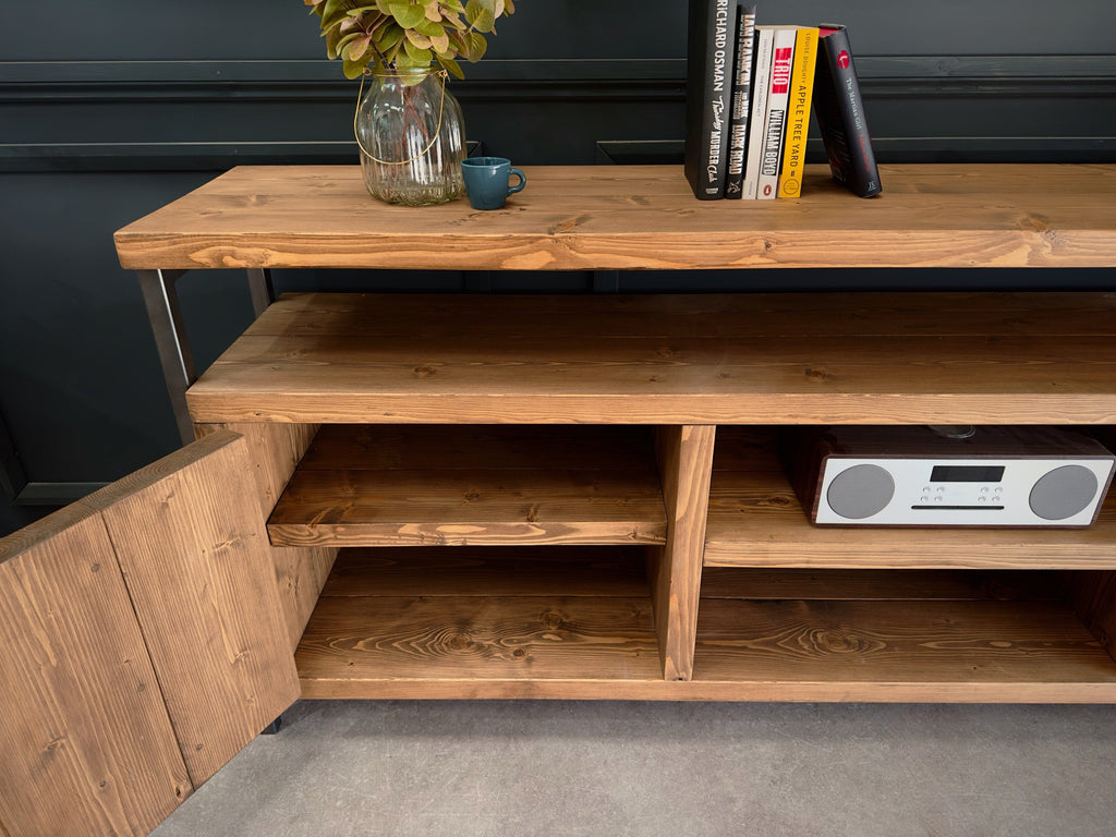
<path id="1" fill-rule="evenodd" d="M 860 198 L 879 194 L 876 155 L 872 151 L 848 31 L 843 26 L 820 26 L 814 114 L 834 180 Z"/>

